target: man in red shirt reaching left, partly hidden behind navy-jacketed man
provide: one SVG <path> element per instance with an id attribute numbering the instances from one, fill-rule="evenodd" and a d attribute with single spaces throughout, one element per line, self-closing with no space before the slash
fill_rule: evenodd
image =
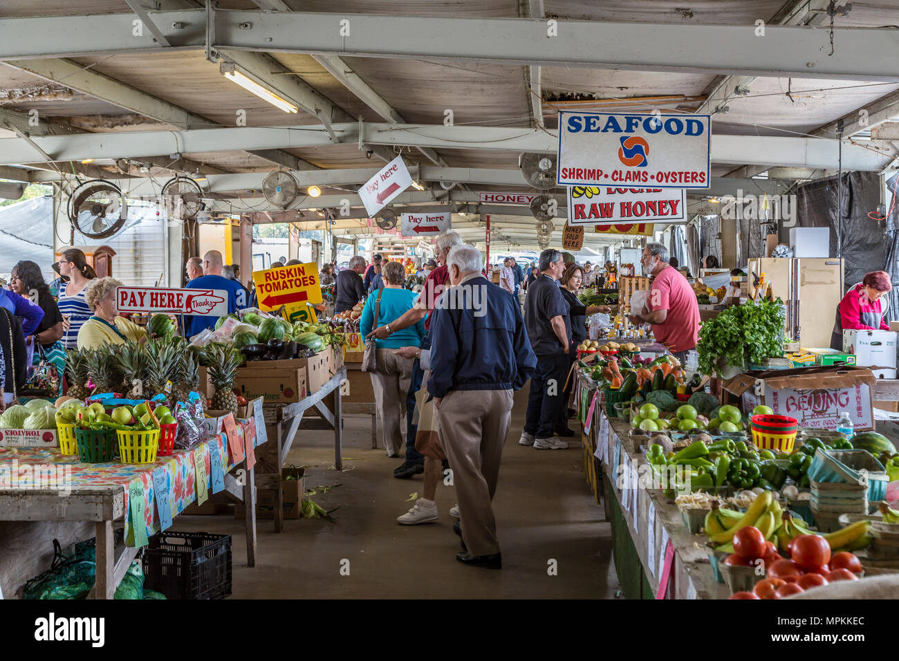
<path id="1" fill-rule="evenodd" d="M 375 328 L 369 333 L 368 337 L 365 338 L 366 340 L 369 338 L 376 338 L 378 340 L 387 339 L 389 335 L 396 333 L 398 330 L 414 326 L 414 324 L 417 324 L 419 320 L 425 316 L 427 316 L 427 318 L 424 319 L 424 328 L 426 330 L 431 328 L 432 314 L 430 313 L 434 308 L 434 303 L 440 298 L 443 290 L 449 287 L 449 269 L 446 265 L 449 249 L 453 246 L 461 246 L 462 237 L 459 237 L 456 232 L 447 232 L 446 234 L 437 237 L 435 244 L 437 247 L 437 255 L 435 256 L 440 266 L 428 273 L 427 280 L 424 281 L 423 290 L 421 294 L 419 294 L 418 300 L 415 301 L 414 306 L 402 317 L 396 319 L 396 321 L 391 321 L 389 324 Z M 414 362 L 412 366 L 412 383 L 409 386 L 409 392 L 405 400 L 405 462 L 402 466 L 394 470 L 394 477 L 398 479 L 408 479 L 418 473 L 424 473 L 426 485 L 424 488 L 425 493 L 430 493 L 431 489 L 428 487 L 430 487 L 432 480 L 440 480 L 441 461 L 433 460 L 431 457 L 426 459 L 421 452 L 415 450 L 415 433 L 417 432 L 417 425 L 412 424 L 412 419 L 415 412 L 415 393 L 421 389 L 422 380 L 424 378 L 424 371 L 419 359 L 423 351 L 428 351 L 430 349 L 431 335 L 428 334 L 424 336 L 421 346 L 405 346 L 402 349 L 396 350 L 398 355 L 406 358 L 413 358 Z M 430 520 L 433 521 L 433 519 Z"/>

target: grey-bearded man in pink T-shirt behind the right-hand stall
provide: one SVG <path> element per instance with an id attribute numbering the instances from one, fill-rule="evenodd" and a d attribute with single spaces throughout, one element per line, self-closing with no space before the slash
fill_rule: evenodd
<path id="1" fill-rule="evenodd" d="M 696 294 L 681 272 L 668 264 L 668 248 L 662 244 L 647 244 L 640 263 L 654 281 L 644 308 L 631 314 L 630 320 L 652 324 L 655 340 L 685 362 L 687 352 L 696 348 L 699 335 Z"/>

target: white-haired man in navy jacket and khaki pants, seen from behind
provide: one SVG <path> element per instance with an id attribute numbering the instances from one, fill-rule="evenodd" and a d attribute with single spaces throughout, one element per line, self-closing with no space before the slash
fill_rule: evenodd
<path id="1" fill-rule="evenodd" d="M 481 274 L 472 246 L 449 251 L 452 286 L 437 300 L 431 325 L 434 397 L 443 451 L 456 486 L 465 553 L 459 562 L 503 566 L 491 501 L 503 442 L 512 417 L 512 390 L 520 390 L 537 365 L 512 295 Z"/>

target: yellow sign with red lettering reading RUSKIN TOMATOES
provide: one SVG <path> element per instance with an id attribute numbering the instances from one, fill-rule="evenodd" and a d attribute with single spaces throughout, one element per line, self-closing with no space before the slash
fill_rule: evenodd
<path id="1" fill-rule="evenodd" d="M 290 320 L 310 320 L 315 313 L 310 305 L 322 302 L 322 287 L 318 281 L 316 264 L 280 266 L 265 271 L 254 271 L 256 299 L 262 310 L 284 307 Z"/>

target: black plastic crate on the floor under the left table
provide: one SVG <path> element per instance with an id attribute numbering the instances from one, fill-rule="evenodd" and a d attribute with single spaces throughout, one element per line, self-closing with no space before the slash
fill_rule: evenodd
<path id="1" fill-rule="evenodd" d="M 171 532 L 144 548 L 144 587 L 168 599 L 224 599 L 231 594 L 231 535 Z"/>

